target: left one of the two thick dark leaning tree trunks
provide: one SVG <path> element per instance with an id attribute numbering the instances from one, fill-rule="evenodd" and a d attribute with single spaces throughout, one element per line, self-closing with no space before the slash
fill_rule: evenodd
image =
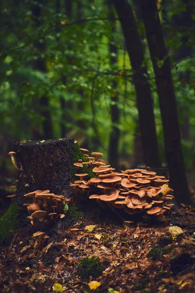
<path id="1" fill-rule="evenodd" d="M 144 65 L 143 46 L 137 31 L 134 13 L 127 0 L 112 1 L 121 22 L 127 51 L 134 72 L 144 163 L 146 166 L 160 167 L 152 94 L 150 84 L 146 78 L 147 68 Z"/>

